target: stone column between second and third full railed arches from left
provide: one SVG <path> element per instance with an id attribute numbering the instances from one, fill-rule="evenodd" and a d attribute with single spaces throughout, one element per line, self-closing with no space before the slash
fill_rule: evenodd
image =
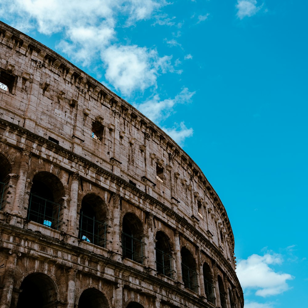
<path id="1" fill-rule="evenodd" d="M 112 258 L 115 261 L 122 262 L 122 249 L 120 240 L 120 194 L 114 194 L 113 198 L 113 235 L 112 235 Z M 112 207 L 111 207 L 112 210 Z"/>

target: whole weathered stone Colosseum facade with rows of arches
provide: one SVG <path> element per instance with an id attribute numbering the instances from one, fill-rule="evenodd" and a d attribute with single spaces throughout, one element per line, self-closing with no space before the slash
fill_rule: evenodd
<path id="1" fill-rule="evenodd" d="M 194 161 L 129 103 L 0 23 L 0 308 L 242 308 Z"/>

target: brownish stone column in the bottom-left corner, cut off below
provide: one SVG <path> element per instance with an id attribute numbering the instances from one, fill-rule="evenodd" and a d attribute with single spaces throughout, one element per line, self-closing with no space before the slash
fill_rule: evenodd
<path id="1" fill-rule="evenodd" d="M 6 261 L 4 287 L 0 301 L 0 308 L 10 308 L 11 306 L 16 262 L 17 257 L 20 255 L 21 253 L 15 253 L 12 252 L 12 250 L 9 251 L 9 257 Z"/>

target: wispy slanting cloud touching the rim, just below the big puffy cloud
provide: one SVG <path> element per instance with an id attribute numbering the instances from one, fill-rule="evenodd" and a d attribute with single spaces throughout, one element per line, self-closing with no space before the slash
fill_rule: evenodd
<path id="1" fill-rule="evenodd" d="M 159 95 L 155 95 L 152 99 L 138 104 L 136 107 L 154 123 L 160 124 L 173 113 L 174 105 L 189 103 L 194 94 L 195 92 L 184 88 L 174 99 L 160 100 Z"/>

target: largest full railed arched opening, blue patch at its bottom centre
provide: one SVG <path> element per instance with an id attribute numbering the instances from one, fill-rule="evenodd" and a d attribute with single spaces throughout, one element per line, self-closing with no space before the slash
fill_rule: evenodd
<path id="1" fill-rule="evenodd" d="M 64 188 L 50 172 L 39 172 L 33 177 L 29 197 L 28 220 L 52 229 L 59 229 Z"/>

